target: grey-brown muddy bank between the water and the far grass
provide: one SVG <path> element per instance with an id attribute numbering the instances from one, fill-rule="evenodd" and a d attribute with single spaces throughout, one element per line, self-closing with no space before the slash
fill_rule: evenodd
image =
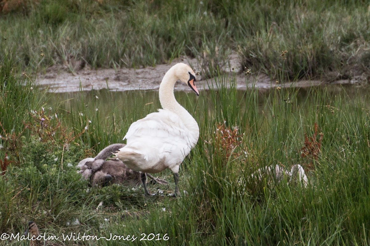
<path id="1" fill-rule="evenodd" d="M 81 89 L 83 90 L 100 90 L 109 88 L 112 91 L 124 91 L 124 90 L 157 90 L 159 83 L 161 83 L 164 74 L 171 68 L 172 65 L 184 62 L 192 65 L 196 71 L 202 71 L 201 65 L 197 59 L 178 58 L 174 59 L 171 64 L 161 64 L 155 67 L 147 68 L 120 68 L 120 69 L 89 69 L 84 68 L 83 70 L 71 73 L 66 69 L 52 68 L 46 72 L 46 74 L 38 75 L 38 85 L 48 87 L 49 92 L 76 92 Z M 310 81 L 299 81 L 291 83 L 283 83 L 276 85 L 275 81 L 271 81 L 270 77 L 265 74 L 259 75 L 245 75 L 240 71 L 240 65 L 238 56 L 232 54 L 230 56 L 228 65 L 222 68 L 224 72 L 229 74 L 231 78 L 232 73 L 236 75 L 236 86 L 237 89 L 246 89 L 247 87 L 269 89 L 271 87 L 309 87 L 323 85 L 326 82 L 319 80 Z M 214 78 L 203 79 L 201 75 L 197 76 L 196 86 L 198 89 L 209 89 L 209 87 L 215 87 Z M 341 80 L 334 83 L 352 83 L 350 80 Z M 248 84 L 248 86 L 247 86 Z M 181 83 L 176 83 L 175 90 L 188 90 L 188 86 Z"/>

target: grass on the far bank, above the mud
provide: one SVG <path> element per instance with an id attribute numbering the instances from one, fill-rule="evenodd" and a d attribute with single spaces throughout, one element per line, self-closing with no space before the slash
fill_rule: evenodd
<path id="1" fill-rule="evenodd" d="M 11 51 L 38 72 L 138 68 L 188 55 L 212 75 L 235 51 L 242 69 L 279 80 L 367 80 L 368 7 L 360 0 L 36 1 L 0 16 L 0 54 Z"/>

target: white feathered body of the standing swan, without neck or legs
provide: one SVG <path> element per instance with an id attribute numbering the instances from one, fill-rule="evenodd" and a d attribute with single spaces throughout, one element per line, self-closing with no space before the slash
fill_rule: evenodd
<path id="1" fill-rule="evenodd" d="M 191 139 L 192 134 L 178 115 L 166 109 L 158 111 L 131 124 L 124 137 L 127 145 L 118 156 L 127 153 L 134 158 L 133 153 L 141 154 L 146 164 L 155 165 L 163 160 L 164 168 L 172 168 L 184 160 L 198 139 Z"/>

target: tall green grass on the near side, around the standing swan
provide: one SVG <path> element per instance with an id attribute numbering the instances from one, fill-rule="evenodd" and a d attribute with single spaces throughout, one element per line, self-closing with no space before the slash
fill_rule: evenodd
<path id="1" fill-rule="evenodd" d="M 121 142 L 131 122 L 160 107 L 156 92 L 46 94 L 24 84 L 13 63 L 1 61 L 0 70 L 0 159 L 7 153 L 11 161 L 0 176 L 1 234 L 23 234 L 33 220 L 47 235 L 139 237 L 78 245 L 370 245 L 369 88 L 240 92 L 234 77 L 221 76 L 217 90 L 199 98 L 176 93 L 197 120 L 200 138 L 181 165 L 180 188 L 188 194 L 174 199 L 146 197 L 141 187 L 87 189 L 74 168 Z M 10 95 L 19 103 L 11 105 Z M 302 157 L 315 123 L 323 134 L 318 158 Z M 223 124 L 238 128 L 232 152 L 217 127 Z M 266 165 L 298 163 L 307 171 L 306 189 L 250 178 Z M 159 175 L 170 184 L 150 189 L 174 188 L 169 171 Z M 78 225 L 71 224 L 75 219 Z M 168 240 L 139 241 L 141 233 Z"/>

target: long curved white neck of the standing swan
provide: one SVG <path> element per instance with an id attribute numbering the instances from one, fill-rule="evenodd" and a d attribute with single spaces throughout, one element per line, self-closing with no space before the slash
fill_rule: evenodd
<path id="1" fill-rule="evenodd" d="M 175 69 L 172 67 L 164 75 L 161 85 L 159 85 L 159 101 L 162 108 L 170 110 L 180 117 L 185 126 L 192 132 L 195 143 L 199 137 L 199 127 L 191 114 L 182 107 L 175 99 L 174 87 L 177 81 Z"/>

